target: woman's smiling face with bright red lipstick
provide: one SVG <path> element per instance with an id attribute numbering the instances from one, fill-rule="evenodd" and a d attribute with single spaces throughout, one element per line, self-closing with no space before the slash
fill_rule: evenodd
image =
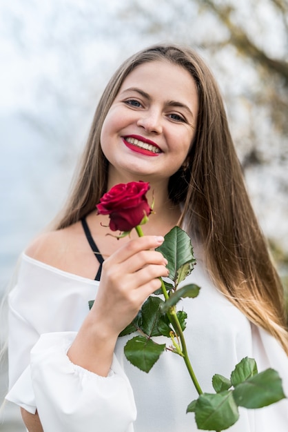
<path id="1" fill-rule="evenodd" d="M 109 184 L 165 181 L 187 157 L 198 115 L 196 84 L 168 61 L 150 61 L 126 77 L 107 113 L 101 148 Z"/>

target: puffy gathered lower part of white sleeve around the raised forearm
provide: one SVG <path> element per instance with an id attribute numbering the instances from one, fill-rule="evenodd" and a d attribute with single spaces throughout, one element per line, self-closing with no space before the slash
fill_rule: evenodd
<path id="1" fill-rule="evenodd" d="M 130 383 L 114 356 L 101 377 L 70 362 L 76 333 L 46 333 L 31 351 L 31 377 L 45 432 L 133 431 L 136 408 Z"/>

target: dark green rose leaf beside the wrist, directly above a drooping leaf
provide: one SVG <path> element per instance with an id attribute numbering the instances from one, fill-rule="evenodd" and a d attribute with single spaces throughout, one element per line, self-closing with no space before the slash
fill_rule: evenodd
<path id="1" fill-rule="evenodd" d="M 149 337 L 162 335 L 169 337 L 171 328 L 169 327 L 169 320 L 163 314 L 162 304 L 164 302 L 159 297 L 150 296 L 141 308 L 142 323 L 140 328 Z"/>

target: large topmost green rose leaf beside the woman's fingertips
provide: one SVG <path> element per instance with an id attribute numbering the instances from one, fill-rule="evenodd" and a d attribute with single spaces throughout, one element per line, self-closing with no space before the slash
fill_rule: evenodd
<path id="1" fill-rule="evenodd" d="M 189 263 L 189 273 L 191 273 L 194 268 L 196 259 L 194 258 L 191 239 L 189 235 L 178 226 L 174 226 L 174 228 L 165 235 L 165 242 L 156 248 L 156 251 L 161 252 L 167 259 L 169 278 L 174 282 L 176 282 L 177 271 L 181 266 Z"/>

